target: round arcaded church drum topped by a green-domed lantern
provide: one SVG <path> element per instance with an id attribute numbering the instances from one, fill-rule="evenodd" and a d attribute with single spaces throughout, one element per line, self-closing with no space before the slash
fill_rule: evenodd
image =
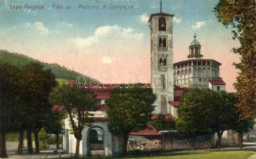
<path id="1" fill-rule="evenodd" d="M 177 86 L 208 88 L 210 80 L 221 80 L 219 77 L 219 66 L 221 64 L 216 60 L 202 57 L 201 45 L 196 40 L 195 34 L 193 41 L 189 45 L 188 60 L 173 64 L 174 83 Z"/>

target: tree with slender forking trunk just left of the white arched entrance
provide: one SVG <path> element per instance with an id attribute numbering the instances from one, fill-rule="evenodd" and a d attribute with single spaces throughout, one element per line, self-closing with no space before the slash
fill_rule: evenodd
<path id="1" fill-rule="evenodd" d="M 92 114 L 89 111 L 97 108 L 96 100 L 90 91 L 69 85 L 57 87 L 52 91 L 51 99 L 53 104 L 63 105 L 68 112 L 76 138 L 76 157 L 79 157 L 83 126 L 90 121 Z"/>

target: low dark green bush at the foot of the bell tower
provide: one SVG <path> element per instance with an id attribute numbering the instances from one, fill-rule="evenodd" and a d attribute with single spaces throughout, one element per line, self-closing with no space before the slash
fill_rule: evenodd
<path id="1" fill-rule="evenodd" d="M 165 115 L 159 114 L 156 120 L 150 121 L 157 130 L 175 130 L 176 122 L 174 119 L 165 119 Z"/>

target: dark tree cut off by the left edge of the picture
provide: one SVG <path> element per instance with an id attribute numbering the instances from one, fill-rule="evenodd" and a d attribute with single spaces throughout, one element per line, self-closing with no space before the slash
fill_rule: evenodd
<path id="1" fill-rule="evenodd" d="M 0 64 L 0 158 L 7 157 L 6 133 L 13 130 L 17 118 L 17 86 L 18 68 L 8 64 Z M 14 122 L 15 121 L 15 122 Z"/>

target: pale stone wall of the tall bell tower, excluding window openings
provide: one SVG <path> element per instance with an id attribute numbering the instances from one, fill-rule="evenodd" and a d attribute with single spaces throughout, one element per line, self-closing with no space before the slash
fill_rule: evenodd
<path id="1" fill-rule="evenodd" d="M 166 19 L 166 32 L 158 30 L 159 17 Z M 167 114 L 170 113 L 168 102 L 173 101 L 173 17 L 171 16 L 153 16 L 151 22 L 151 68 L 152 68 L 152 87 L 153 93 L 157 95 L 157 100 L 154 105 L 155 111 L 153 114 Z M 158 37 L 167 37 L 167 50 L 161 51 L 158 49 Z M 160 56 L 167 57 L 166 68 L 159 68 Z M 165 76 L 166 88 L 161 87 L 161 75 Z M 166 111 L 161 112 L 161 95 L 166 98 Z"/>

